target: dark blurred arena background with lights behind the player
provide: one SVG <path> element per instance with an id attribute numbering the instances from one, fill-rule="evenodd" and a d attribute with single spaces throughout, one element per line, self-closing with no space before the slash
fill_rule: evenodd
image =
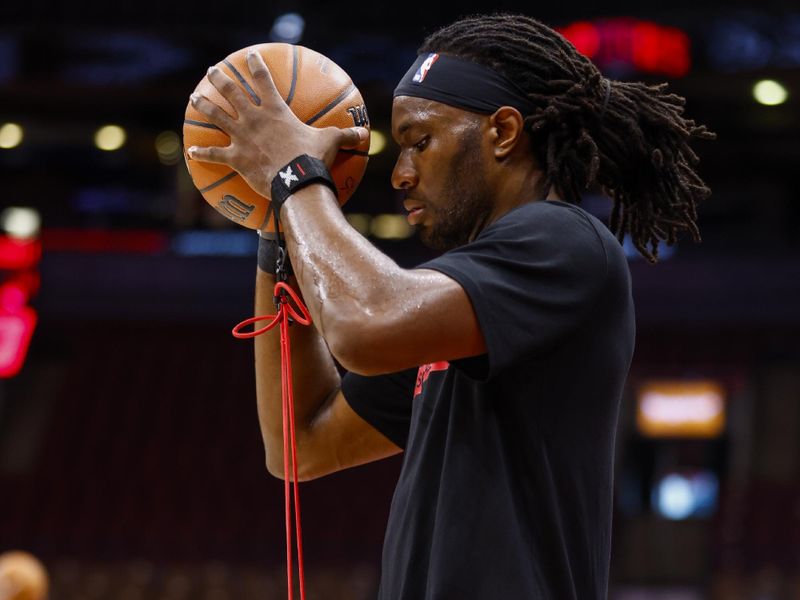
<path id="1" fill-rule="evenodd" d="M 427 250 L 389 174 L 391 92 L 476 11 L 560 28 L 606 75 L 668 81 L 718 134 L 701 244 L 630 253 L 637 350 L 618 438 L 613 600 L 800 598 L 800 6 L 796 2 L 0 4 L 0 552 L 51 598 L 286 596 L 251 343 L 256 238 L 203 201 L 188 95 L 289 41 L 353 78 L 377 134 L 345 206 L 400 264 Z M 588 196 L 605 216 L 610 204 Z M 304 484 L 310 598 L 374 598 L 399 460 Z"/>

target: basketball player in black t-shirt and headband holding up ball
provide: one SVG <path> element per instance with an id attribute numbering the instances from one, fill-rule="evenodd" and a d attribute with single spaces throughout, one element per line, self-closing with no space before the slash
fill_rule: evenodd
<path id="1" fill-rule="evenodd" d="M 231 145 L 189 154 L 279 209 L 314 322 L 291 328 L 299 477 L 404 452 L 380 598 L 606 598 L 635 337 L 620 241 L 651 262 L 662 240 L 699 241 L 690 143 L 713 134 L 665 85 L 605 78 L 532 18 L 453 22 L 394 93 L 392 184 L 442 251 L 403 269 L 348 225 L 327 175 L 366 130 L 304 125 L 248 64 L 261 104 L 212 69 L 237 117 L 192 102 Z M 607 225 L 579 206 L 589 189 L 613 202 Z M 262 239 L 256 314 L 272 312 L 275 247 Z M 277 333 L 256 340 L 256 378 L 282 477 Z"/>

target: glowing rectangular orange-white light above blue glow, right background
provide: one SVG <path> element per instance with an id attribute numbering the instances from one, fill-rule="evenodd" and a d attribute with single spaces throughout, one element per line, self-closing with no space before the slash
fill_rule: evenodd
<path id="1" fill-rule="evenodd" d="M 647 437 L 721 435 L 725 393 L 716 381 L 650 381 L 639 388 L 636 425 Z"/>

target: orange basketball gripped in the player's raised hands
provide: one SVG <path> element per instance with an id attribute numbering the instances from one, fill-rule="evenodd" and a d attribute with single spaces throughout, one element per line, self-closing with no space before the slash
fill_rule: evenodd
<path id="1" fill-rule="evenodd" d="M 260 100 L 251 85 L 252 77 L 246 61 L 251 48 L 261 54 L 275 87 L 301 121 L 314 127 L 369 127 L 364 99 L 350 76 L 326 56 L 296 44 L 256 44 L 237 50 L 217 63 L 217 67 L 239 82 L 254 103 Z M 228 114 L 236 114 L 208 77 L 203 77 L 195 92 Z M 269 198 L 253 190 L 230 167 L 193 160 L 186 153 L 191 146 L 224 147 L 229 143 L 227 134 L 209 123 L 191 102 L 187 104 L 183 121 L 183 155 L 200 194 L 218 212 L 239 225 L 275 231 Z M 330 172 L 339 191 L 340 205 L 347 202 L 361 182 L 367 167 L 368 150 L 369 140 L 366 140 L 357 148 L 340 150 L 334 159 Z"/>

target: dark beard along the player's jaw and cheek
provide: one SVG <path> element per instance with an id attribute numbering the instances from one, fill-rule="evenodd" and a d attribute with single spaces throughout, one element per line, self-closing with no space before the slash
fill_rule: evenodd
<path id="1" fill-rule="evenodd" d="M 433 224 L 419 227 L 422 243 L 433 250 L 446 251 L 468 243 L 492 212 L 477 128 L 470 130 L 449 164 L 445 195 L 436 205 L 427 207 Z"/>

